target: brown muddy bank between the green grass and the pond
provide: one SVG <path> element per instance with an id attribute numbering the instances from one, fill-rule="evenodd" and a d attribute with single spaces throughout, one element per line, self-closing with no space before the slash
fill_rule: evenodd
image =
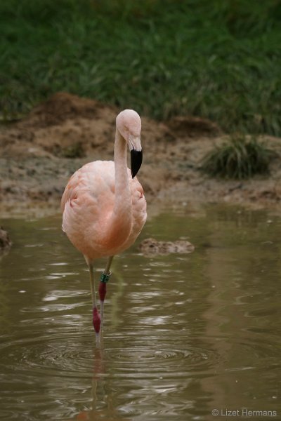
<path id="1" fill-rule="evenodd" d="M 57 93 L 13 124 L 0 127 L 0 216 L 58 213 L 70 175 L 84 163 L 112 159 L 120 110 Z M 181 116 L 159 123 L 142 117 L 144 160 L 138 179 L 149 203 L 194 206 L 227 202 L 280 207 L 281 142 L 264 139 L 278 157 L 268 177 L 221 181 L 200 172 L 202 156 L 226 139 L 211 121 Z"/>

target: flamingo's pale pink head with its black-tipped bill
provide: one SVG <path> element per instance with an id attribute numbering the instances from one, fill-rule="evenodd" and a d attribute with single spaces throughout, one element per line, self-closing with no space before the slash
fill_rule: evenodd
<path id="1" fill-rule="evenodd" d="M 134 178 L 143 161 L 141 117 L 133 109 L 124 109 L 116 117 L 116 127 L 129 146 L 131 152 L 131 174 Z"/>

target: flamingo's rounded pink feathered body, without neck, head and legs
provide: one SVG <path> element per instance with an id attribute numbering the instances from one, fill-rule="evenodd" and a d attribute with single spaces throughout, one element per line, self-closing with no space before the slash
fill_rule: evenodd
<path id="1" fill-rule="evenodd" d="M 129 248 L 146 220 L 143 187 L 127 168 L 131 215 L 124 208 L 109 225 L 115 207 L 115 163 L 86 163 L 70 178 L 61 200 L 63 231 L 89 260 L 116 255 Z"/>

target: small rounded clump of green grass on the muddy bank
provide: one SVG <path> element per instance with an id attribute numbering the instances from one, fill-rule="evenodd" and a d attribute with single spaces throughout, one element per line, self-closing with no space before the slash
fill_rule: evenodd
<path id="1" fill-rule="evenodd" d="M 242 180 L 255 174 L 268 174 L 273 156 L 273 150 L 255 137 L 233 135 L 204 157 L 201 169 L 211 177 Z"/>

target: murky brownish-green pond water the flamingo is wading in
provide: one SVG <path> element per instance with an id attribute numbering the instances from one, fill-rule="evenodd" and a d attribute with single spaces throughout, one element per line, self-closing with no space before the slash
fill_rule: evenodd
<path id="1" fill-rule="evenodd" d="M 145 258 L 136 245 L 115 259 L 100 349 L 86 265 L 60 218 L 2 224 L 14 244 L 0 262 L 1 420 L 281 419 L 277 215 L 152 218 L 141 239 L 195 252 Z"/>

